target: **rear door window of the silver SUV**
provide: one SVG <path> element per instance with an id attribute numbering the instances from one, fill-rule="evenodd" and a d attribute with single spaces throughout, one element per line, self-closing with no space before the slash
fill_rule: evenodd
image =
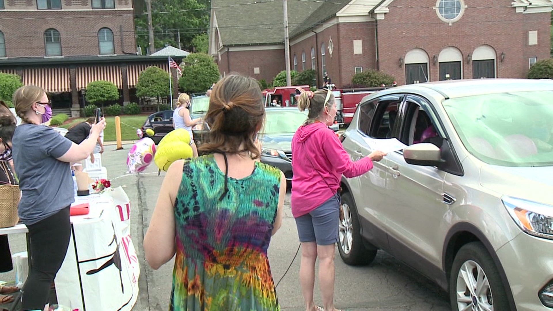
<path id="1" fill-rule="evenodd" d="M 369 131 L 365 133 L 369 137 L 378 139 L 395 137 L 395 120 L 398 116 L 399 106 L 402 100 L 403 95 L 392 95 L 380 98 L 374 107 L 373 117 L 368 128 Z"/>

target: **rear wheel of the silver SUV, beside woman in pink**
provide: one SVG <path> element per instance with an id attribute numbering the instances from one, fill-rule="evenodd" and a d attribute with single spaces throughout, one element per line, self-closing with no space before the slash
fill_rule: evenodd
<path id="1" fill-rule="evenodd" d="M 351 194 L 345 193 L 342 195 L 342 209 L 344 219 L 340 221 L 338 226 L 338 252 L 340 252 L 340 257 L 348 265 L 368 265 L 374 260 L 378 250 L 376 248 L 369 250 L 363 245 L 359 216 Z"/>

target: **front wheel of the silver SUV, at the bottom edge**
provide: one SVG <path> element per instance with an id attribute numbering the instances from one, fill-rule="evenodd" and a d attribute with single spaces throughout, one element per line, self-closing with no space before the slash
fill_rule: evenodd
<path id="1" fill-rule="evenodd" d="M 481 242 L 467 243 L 457 252 L 451 268 L 450 300 L 453 311 L 510 310 L 499 272 Z"/>

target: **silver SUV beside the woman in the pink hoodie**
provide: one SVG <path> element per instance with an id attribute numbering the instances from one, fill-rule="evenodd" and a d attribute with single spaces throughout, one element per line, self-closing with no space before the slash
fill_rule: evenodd
<path id="1" fill-rule="evenodd" d="M 379 91 L 341 139 L 357 160 L 387 138 L 408 147 L 342 180 L 342 260 L 368 264 L 382 249 L 448 291 L 455 311 L 553 310 L 553 80 Z"/>

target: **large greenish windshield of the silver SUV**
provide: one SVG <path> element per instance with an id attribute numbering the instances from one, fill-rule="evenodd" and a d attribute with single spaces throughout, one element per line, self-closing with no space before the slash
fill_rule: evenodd
<path id="1" fill-rule="evenodd" d="M 488 164 L 553 165 L 553 91 L 467 96 L 444 108 L 468 152 Z"/>

